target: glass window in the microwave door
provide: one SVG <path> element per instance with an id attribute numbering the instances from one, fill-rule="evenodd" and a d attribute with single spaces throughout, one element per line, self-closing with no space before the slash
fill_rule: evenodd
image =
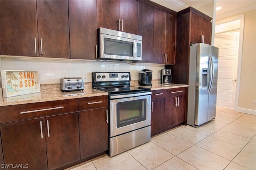
<path id="1" fill-rule="evenodd" d="M 124 55 L 132 57 L 132 42 L 104 38 L 104 53 L 108 55 Z"/>

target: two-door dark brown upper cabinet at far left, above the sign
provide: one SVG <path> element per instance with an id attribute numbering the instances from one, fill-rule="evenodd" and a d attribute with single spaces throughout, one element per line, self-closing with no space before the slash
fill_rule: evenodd
<path id="1" fill-rule="evenodd" d="M 70 58 L 67 0 L 0 3 L 1 55 Z"/>

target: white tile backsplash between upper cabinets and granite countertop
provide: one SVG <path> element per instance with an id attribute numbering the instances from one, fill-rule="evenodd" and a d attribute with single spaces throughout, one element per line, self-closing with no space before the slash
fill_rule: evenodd
<path id="1" fill-rule="evenodd" d="M 93 60 L 62 60 L 62 59 L 31 59 L 26 58 L 0 58 L 1 70 L 27 70 L 39 71 L 40 84 L 60 83 L 61 77 L 86 77 L 84 82 L 92 82 L 93 71 L 129 71 L 131 80 L 139 79 L 139 71 L 150 69 L 153 71 L 153 80 L 161 79 L 161 69 L 164 64 L 148 63 L 112 63 Z"/>

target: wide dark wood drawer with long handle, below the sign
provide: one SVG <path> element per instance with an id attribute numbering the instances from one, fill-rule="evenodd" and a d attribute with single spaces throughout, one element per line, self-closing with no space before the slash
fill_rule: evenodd
<path id="1" fill-rule="evenodd" d="M 58 100 L 1 107 L 0 123 L 78 111 L 78 100 Z"/>

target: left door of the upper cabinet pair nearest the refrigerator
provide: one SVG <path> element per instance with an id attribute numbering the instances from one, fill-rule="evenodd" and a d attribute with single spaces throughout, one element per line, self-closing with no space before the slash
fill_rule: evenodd
<path id="1" fill-rule="evenodd" d="M 166 12 L 154 9 L 154 47 L 153 47 L 153 63 L 165 62 L 165 22 Z M 143 41 L 142 41 L 143 43 Z"/>

